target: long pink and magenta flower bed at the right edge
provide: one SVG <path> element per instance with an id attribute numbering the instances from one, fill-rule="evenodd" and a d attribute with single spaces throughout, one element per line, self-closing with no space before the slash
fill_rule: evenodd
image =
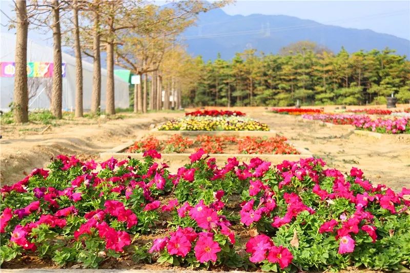
<path id="1" fill-rule="evenodd" d="M 351 124 L 358 130 L 372 131 L 381 134 L 409 134 L 410 117 L 394 119 L 371 119 L 366 115 L 319 114 L 302 115 L 304 119 L 321 120 L 333 124 Z"/>

